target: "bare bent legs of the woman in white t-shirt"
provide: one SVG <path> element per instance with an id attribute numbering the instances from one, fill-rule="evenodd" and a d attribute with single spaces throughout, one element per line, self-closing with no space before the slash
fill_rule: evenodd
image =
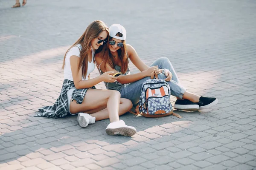
<path id="1" fill-rule="evenodd" d="M 119 108 L 119 105 L 121 108 Z M 107 108 L 99 111 L 99 108 L 102 109 L 104 107 Z M 81 104 L 77 104 L 75 100 L 71 102 L 70 112 L 89 112 L 92 113 L 91 116 L 96 117 L 96 120 L 109 118 L 110 122 L 116 122 L 119 121 L 119 113 L 126 113 L 131 107 L 130 100 L 122 99 L 120 101 L 120 93 L 118 91 L 88 89 Z"/>

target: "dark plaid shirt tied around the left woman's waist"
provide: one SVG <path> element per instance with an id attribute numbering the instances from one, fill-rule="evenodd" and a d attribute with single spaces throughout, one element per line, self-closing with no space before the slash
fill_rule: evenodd
<path id="1" fill-rule="evenodd" d="M 74 88 L 74 87 L 75 87 L 75 84 L 73 81 L 64 79 L 64 82 L 61 88 L 61 94 L 56 100 L 55 104 L 53 106 L 44 106 L 43 108 L 39 108 L 38 111 L 40 111 L 41 113 L 37 113 L 34 116 L 44 116 L 44 117 L 52 117 L 52 118 L 67 116 L 67 114 L 69 113 L 68 107 L 67 107 L 67 104 L 68 104 L 67 91 L 70 88 Z M 92 88 L 95 88 L 95 87 L 93 86 Z M 81 104 L 84 100 L 84 96 L 87 90 L 88 88 L 74 90 L 72 94 L 72 99 L 76 100 L 76 103 Z"/>

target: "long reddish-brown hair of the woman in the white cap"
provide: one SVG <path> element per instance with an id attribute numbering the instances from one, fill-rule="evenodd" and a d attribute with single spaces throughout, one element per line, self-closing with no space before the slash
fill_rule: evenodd
<path id="1" fill-rule="evenodd" d="M 118 32 L 116 36 L 122 37 L 122 33 Z M 108 42 L 111 41 L 112 39 L 113 37 L 109 37 Z M 117 50 L 117 54 L 118 54 L 118 59 L 121 61 L 121 72 L 122 74 L 125 74 L 125 72 L 128 70 L 129 60 L 127 55 L 127 45 L 125 40 L 122 40 L 122 43 L 124 46 Z M 112 68 L 115 68 L 115 66 L 118 64 L 118 61 L 116 61 L 115 57 L 113 57 L 109 48 L 102 50 L 102 54 L 100 56 L 102 57 L 103 60 L 105 60 L 103 61 L 105 63 L 104 64 L 105 70 L 106 70 L 106 63 L 108 63 Z"/>

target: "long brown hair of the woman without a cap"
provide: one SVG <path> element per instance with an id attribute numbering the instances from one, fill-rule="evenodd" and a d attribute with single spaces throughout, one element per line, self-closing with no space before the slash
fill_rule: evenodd
<path id="1" fill-rule="evenodd" d="M 82 49 L 80 50 L 80 60 L 79 60 L 78 70 L 82 68 L 82 76 L 84 78 L 86 77 L 86 74 L 87 74 L 88 54 L 91 48 L 91 41 L 99 37 L 99 34 L 102 33 L 102 31 L 107 31 L 109 36 L 108 27 L 103 21 L 100 21 L 100 20 L 93 21 L 86 28 L 86 30 L 84 31 L 84 34 L 82 34 L 81 37 L 67 50 L 68 52 L 71 48 L 75 47 L 78 44 L 82 46 Z M 63 69 L 65 66 L 65 59 L 66 59 L 67 52 L 63 60 L 63 65 L 62 65 Z"/>

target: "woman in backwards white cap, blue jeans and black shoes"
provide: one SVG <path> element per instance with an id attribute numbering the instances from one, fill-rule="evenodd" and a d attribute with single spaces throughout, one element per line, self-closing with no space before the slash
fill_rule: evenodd
<path id="1" fill-rule="evenodd" d="M 203 97 L 186 91 L 179 84 L 177 74 L 171 62 L 166 57 L 157 59 L 148 67 L 138 56 L 135 49 L 126 44 L 126 30 L 119 24 L 113 24 L 109 28 L 108 48 L 96 54 L 98 69 L 103 74 L 105 71 L 113 71 L 113 74 L 122 72 L 116 82 L 105 82 L 107 89 L 117 90 L 121 97 L 130 99 L 136 105 L 140 99 L 141 85 L 150 79 L 151 73 L 156 72 L 159 79 L 164 79 L 169 83 L 171 94 L 177 97 L 174 108 L 186 111 L 198 111 L 216 105 L 217 98 Z M 141 71 L 130 75 L 128 58 Z"/>

